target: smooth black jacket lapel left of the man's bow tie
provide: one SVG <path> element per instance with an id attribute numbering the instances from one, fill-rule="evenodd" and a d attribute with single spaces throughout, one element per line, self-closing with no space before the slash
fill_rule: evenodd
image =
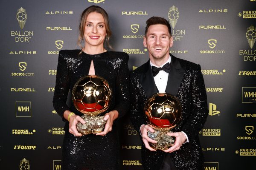
<path id="1" fill-rule="evenodd" d="M 144 70 L 140 75 L 140 83 L 147 95 L 147 98 L 157 93 L 157 86 L 154 83 L 154 77 L 150 68 L 149 60 L 144 64 Z"/>

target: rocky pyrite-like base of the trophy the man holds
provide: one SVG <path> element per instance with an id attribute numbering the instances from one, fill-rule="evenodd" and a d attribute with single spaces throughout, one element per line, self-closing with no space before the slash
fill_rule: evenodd
<path id="1" fill-rule="evenodd" d="M 168 130 L 160 131 L 156 129 L 154 129 L 154 133 L 148 131 L 148 137 L 157 141 L 156 144 L 148 142 L 149 146 L 155 150 L 166 150 L 172 147 L 175 141 L 175 137 L 167 135 L 168 132 Z"/>

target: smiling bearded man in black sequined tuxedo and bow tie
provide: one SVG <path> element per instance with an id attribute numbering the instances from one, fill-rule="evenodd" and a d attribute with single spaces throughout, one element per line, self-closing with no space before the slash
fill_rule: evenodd
<path id="1" fill-rule="evenodd" d="M 131 73 L 131 122 L 141 133 L 142 163 L 145 170 L 201 170 L 204 158 L 198 133 L 207 119 L 207 96 L 200 65 L 169 54 L 173 45 L 171 26 L 161 17 L 146 22 L 144 46 L 149 60 Z M 154 74 L 154 75 L 153 75 Z M 182 106 L 182 119 L 170 136 L 175 143 L 167 150 L 154 150 L 145 122 L 145 102 L 153 94 L 166 92 L 176 96 Z"/>

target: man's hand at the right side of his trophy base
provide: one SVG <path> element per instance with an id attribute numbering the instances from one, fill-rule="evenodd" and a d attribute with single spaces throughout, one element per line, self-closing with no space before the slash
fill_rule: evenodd
<path id="1" fill-rule="evenodd" d="M 182 132 L 170 132 L 170 133 L 167 133 L 169 136 L 175 136 L 175 142 L 173 144 L 172 147 L 170 147 L 169 149 L 166 149 L 166 150 L 163 150 L 164 152 L 169 152 L 169 153 L 172 153 L 174 152 L 175 150 L 179 150 L 181 145 L 186 142 L 186 136 L 184 135 L 184 133 Z"/>

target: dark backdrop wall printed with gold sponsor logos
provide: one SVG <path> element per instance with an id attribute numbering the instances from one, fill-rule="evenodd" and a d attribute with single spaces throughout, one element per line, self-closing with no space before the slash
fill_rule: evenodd
<path id="1" fill-rule="evenodd" d="M 205 170 L 255 166 L 255 0 L 9 0 L 0 2 L 1 170 L 61 170 L 64 122 L 52 107 L 58 51 L 79 48 L 79 16 L 91 5 L 108 12 L 111 44 L 129 54 L 130 70 L 148 60 L 145 21 L 169 20 L 170 53 L 200 64 L 204 75 Z M 120 169 L 142 170 L 140 134 L 128 116 L 119 127 Z"/>

